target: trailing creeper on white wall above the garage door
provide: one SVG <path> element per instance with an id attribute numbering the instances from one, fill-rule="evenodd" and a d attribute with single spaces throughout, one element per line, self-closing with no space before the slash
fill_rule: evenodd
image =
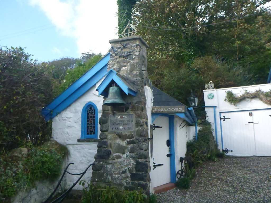
<path id="1" fill-rule="evenodd" d="M 264 92 L 262 90 L 256 90 L 254 92 L 245 91 L 244 94 L 237 96 L 232 91 L 226 91 L 225 102 L 230 103 L 231 105 L 236 106 L 238 102 L 241 102 L 244 99 L 259 98 L 263 103 L 271 106 L 271 90 Z"/>

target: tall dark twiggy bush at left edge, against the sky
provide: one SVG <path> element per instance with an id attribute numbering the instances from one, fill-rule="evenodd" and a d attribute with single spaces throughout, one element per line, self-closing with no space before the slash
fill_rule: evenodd
<path id="1" fill-rule="evenodd" d="M 45 64 L 30 59 L 24 49 L 0 49 L 0 151 L 51 136 L 40 111 L 53 97 L 52 77 Z"/>

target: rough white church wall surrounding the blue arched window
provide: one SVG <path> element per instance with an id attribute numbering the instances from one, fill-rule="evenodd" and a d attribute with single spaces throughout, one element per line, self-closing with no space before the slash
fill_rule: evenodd
<path id="1" fill-rule="evenodd" d="M 96 84 L 98 87 L 99 83 Z M 97 142 L 77 142 L 81 137 L 81 112 L 83 107 L 88 102 L 93 102 L 98 108 L 98 118 L 102 113 L 102 96 L 98 96 L 96 87 L 93 86 L 85 94 L 73 102 L 67 109 L 63 110 L 53 118 L 53 139 L 65 145 L 69 149 L 67 163 L 70 165 L 68 171 L 71 173 L 81 173 L 86 167 L 94 162 L 94 155 L 97 152 Z M 98 123 L 98 118 L 96 122 Z M 98 123 L 98 138 L 100 134 L 100 125 Z M 86 182 L 91 179 L 92 167 L 88 169 L 82 179 Z M 72 186 L 79 176 L 67 174 L 66 188 Z M 79 183 L 73 189 L 82 189 Z"/>

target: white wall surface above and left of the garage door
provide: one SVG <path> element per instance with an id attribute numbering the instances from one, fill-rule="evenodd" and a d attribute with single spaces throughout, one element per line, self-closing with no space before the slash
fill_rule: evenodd
<path id="1" fill-rule="evenodd" d="M 271 89 L 271 84 L 261 84 L 261 85 L 251 85 L 251 86 L 242 86 L 242 87 L 231 87 L 231 88 L 222 88 L 222 89 L 207 89 L 203 90 L 204 92 L 204 101 L 205 106 L 216 106 L 215 107 L 215 118 L 217 124 L 217 140 L 218 140 L 218 148 L 222 151 L 221 144 L 221 129 L 220 129 L 220 112 L 229 112 L 229 111 L 240 111 L 240 110 L 256 110 L 256 109 L 268 109 L 271 106 L 264 104 L 258 98 L 243 100 L 236 104 L 236 106 L 225 102 L 224 99 L 226 97 L 227 91 L 232 91 L 237 96 L 242 95 L 245 91 L 254 92 L 256 90 L 262 90 L 264 92 L 269 91 Z M 214 94 L 213 99 L 208 99 L 208 94 Z M 212 129 L 214 129 L 215 136 L 215 123 L 214 123 L 214 108 L 213 107 L 205 107 L 207 113 L 207 119 L 212 125 Z"/>

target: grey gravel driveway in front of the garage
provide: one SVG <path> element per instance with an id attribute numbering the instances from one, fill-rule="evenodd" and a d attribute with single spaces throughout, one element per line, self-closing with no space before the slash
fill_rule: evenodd
<path id="1" fill-rule="evenodd" d="M 157 194 L 157 203 L 271 203 L 271 157 L 226 157 L 205 162 L 189 189 Z"/>

